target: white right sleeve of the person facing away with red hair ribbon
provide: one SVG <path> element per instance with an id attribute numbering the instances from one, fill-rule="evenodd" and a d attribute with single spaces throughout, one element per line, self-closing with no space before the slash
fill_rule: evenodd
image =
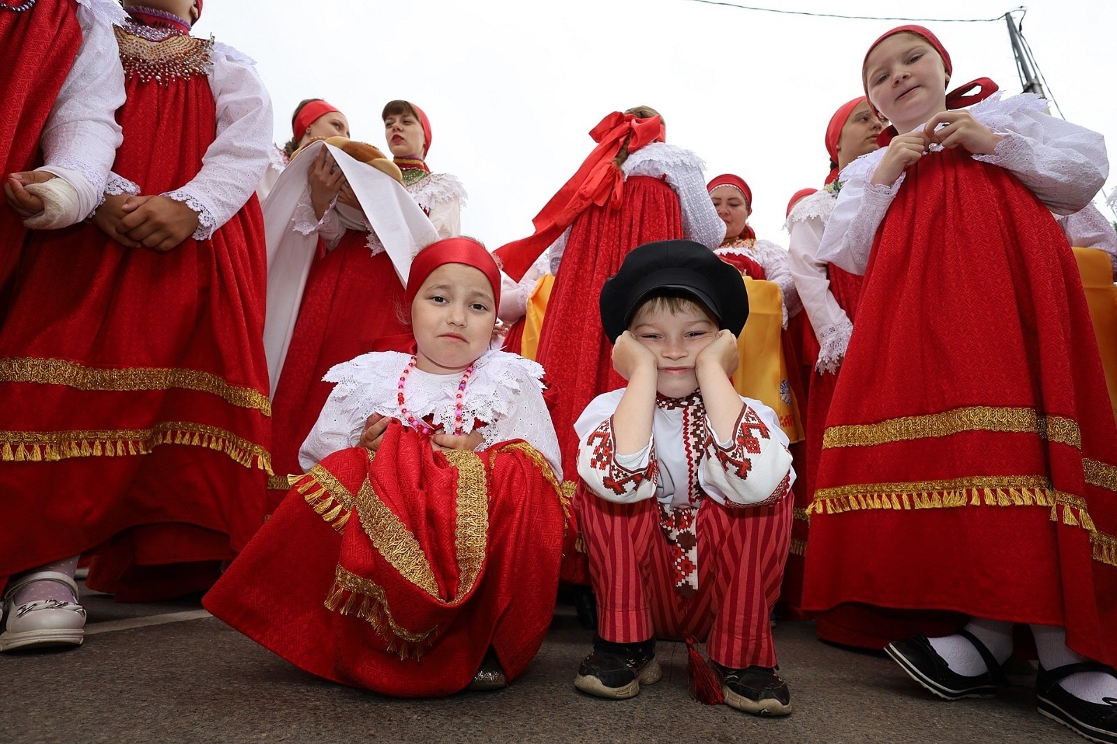
<path id="1" fill-rule="evenodd" d="M 725 239 L 725 222 L 717 216 L 706 192 L 705 166 L 689 150 L 652 142 L 631 153 L 621 164 L 621 171 L 626 179 L 633 175 L 666 179 L 679 198 L 682 236 L 713 250 Z"/>

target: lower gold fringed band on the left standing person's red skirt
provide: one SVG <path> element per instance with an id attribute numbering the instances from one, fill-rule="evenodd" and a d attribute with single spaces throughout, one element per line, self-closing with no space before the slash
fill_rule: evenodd
<path id="1" fill-rule="evenodd" d="M 268 450 L 231 431 L 190 421 L 163 421 L 151 429 L 84 431 L 0 431 L 0 460 L 54 462 L 71 457 L 150 455 L 160 445 L 184 445 L 220 450 L 233 461 L 271 473 Z"/>

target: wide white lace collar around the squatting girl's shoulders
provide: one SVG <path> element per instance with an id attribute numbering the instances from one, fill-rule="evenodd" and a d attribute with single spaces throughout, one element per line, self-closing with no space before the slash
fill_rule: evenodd
<path id="1" fill-rule="evenodd" d="M 363 421 L 373 413 L 399 417 L 398 384 L 410 360 L 410 354 L 399 352 L 362 354 L 331 368 L 323 380 L 337 383 L 333 398 L 337 400 L 338 411 L 349 420 Z M 408 375 L 404 394 L 408 410 L 414 416 L 431 417 L 436 426 L 452 431 L 457 384 L 448 385 L 447 376 L 414 369 Z M 456 382 L 460 375 L 449 376 Z M 502 351 L 481 354 L 474 363 L 474 373 L 466 385 L 462 433 L 472 431 L 475 419 L 491 425 L 507 417 L 514 400 L 527 385 L 543 390 L 542 379 L 543 368 L 523 356 Z M 491 435 L 499 436 L 496 427 L 485 429 L 493 429 Z M 489 433 L 485 429 L 481 430 L 483 436 Z"/>

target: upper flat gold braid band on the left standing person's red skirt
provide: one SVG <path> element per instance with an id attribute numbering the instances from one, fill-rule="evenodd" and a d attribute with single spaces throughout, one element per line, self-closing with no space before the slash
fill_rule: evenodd
<path id="1" fill-rule="evenodd" d="M 217 395 L 227 403 L 271 416 L 271 401 L 264 393 L 231 385 L 220 376 L 182 368 L 103 369 L 60 359 L 0 359 L 0 382 L 56 384 L 98 392 L 145 392 L 179 388 Z"/>

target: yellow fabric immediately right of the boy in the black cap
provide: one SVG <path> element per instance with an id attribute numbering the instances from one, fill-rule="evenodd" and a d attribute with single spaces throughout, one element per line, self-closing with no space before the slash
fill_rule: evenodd
<path id="1" fill-rule="evenodd" d="M 752 277 L 744 280 L 748 293 L 748 321 L 737 338 L 741 364 L 733 374 L 733 387 L 745 398 L 754 398 L 775 411 L 792 442 L 802 441 L 803 425 L 783 355 L 780 286 Z"/>

